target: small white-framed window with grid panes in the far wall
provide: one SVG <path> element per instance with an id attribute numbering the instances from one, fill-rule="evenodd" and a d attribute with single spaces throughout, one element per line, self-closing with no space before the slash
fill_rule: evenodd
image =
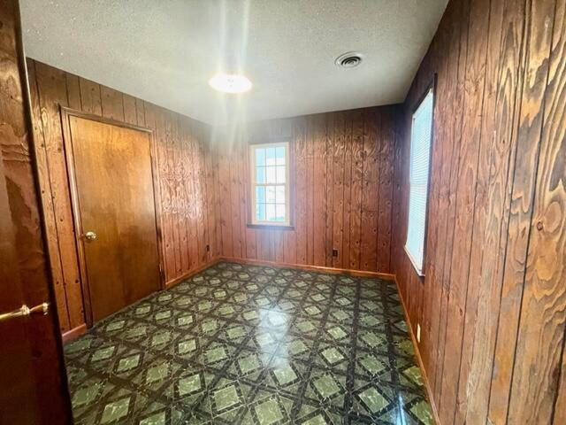
<path id="1" fill-rule="evenodd" d="M 251 169 L 251 222 L 290 226 L 289 143 L 253 144 Z"/>

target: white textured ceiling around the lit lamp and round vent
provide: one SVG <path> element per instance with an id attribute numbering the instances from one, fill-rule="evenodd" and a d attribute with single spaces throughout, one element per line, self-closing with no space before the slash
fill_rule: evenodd
<path id="1" fill-rule="evenodd" d="M 446 0 L 21 0 L 27 56 L 210 124 L 394 104 Z M 363 53 L 352 69 L 340 54 Z M 241 71 L 243 95 L 211 89 Z"/>

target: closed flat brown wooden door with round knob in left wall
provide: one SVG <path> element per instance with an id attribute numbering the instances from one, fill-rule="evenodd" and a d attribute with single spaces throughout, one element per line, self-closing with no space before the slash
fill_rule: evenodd
<path id="1" fill-rule="evenodd" d="M 64 117 L 81 268 L 99 321 L 160 289 L 150 133 Z"/>

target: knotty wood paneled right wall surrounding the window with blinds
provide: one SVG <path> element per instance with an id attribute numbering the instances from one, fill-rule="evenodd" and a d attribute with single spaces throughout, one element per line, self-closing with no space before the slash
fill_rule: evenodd
<path id="1" fill-rule="evenodd" d="M 393 270 L 443 424 L 566 423 L 566 1 L 454 0 L 406 101 Z M 437 74 L 425 277 L 410 112 Z"/>

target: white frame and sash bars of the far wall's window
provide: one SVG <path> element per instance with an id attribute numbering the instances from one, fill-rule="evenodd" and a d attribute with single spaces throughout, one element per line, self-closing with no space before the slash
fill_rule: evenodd
<path id="1" fill-rule="evenodd" d="M 285 220 L 272 221 L 272 220 L 257 220 L 256 215 L 256 186 L 282 186 L 281 183 L 257 183 L 256 182 L 256 149 L 265 148 L 285 148 Z M 290 143 L 289 142 L 275 142 L 275 143 L 261 143 L 249 145 L 249 169 L 250 169 L 250 217 L 251 224 L 255 226 L 278 226 L 290 227 L 291 226 L 291 184 L 290 184 Z"/>

